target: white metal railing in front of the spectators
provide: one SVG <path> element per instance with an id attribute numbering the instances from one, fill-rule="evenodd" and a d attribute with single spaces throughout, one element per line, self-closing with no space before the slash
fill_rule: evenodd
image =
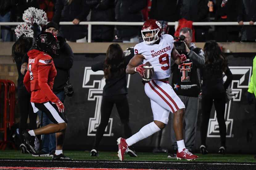
<path id="1" fill-rule="evenodd" d="M 0 22 L 1 26 L 16 26 L 21 22 Z M 144 22 L 80 22 L 79 25 L 88 25 L 88 42 L 92 42 L 92 25 L 116 25 L 116 26 L 142 26 Z M 60 25 L 74 25 L 73 22 L 60 22 Z M 168 22 L 169 26 L 175 26 L 175 30 L 179 22 Z M 193 26 L 239 26 L 238 22 L 193 22 Z M 249 25 L 249 22 L 244 22 L 244 25 Z M 256 25 L 256 22 L 254 22 Z M 1 32 L 0 32 L 1 34 Z"/>

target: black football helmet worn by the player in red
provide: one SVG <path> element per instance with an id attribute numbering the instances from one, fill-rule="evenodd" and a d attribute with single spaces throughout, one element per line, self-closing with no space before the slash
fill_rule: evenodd
<path id="1" fill-rule="evenodd" d="M 36 49 L 44 51 L 48 54 L 58 55 L 58 49 L 60 49 L 60 44 L 57 37 L 49 32 L 43 32 L 39 34 L 35 41 Z"/>

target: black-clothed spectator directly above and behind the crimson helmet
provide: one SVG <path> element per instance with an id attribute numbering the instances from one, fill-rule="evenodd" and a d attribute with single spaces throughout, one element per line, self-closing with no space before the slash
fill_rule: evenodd
<path id="1" fill-rule="evenodd" d="M 175 22 L 180 19 L 180 1 L 179 0 L 152 0 L 150 19 L 156 19 L 158 21 Z M 161 11 L 161 12 L 160 12 Z M 174 26 L 168 26 L 168 34 L 174 34 Z"/>

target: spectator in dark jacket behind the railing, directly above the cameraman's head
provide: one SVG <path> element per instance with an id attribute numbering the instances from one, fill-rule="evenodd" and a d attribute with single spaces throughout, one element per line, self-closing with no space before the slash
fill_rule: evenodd
<path id="1" fill-rule="evenodd" d="M 207 6 L 208 0 L 182 0 L 180 14 L 192 22 L 209 22 Z M 205 42 L 208 34 L 208 26 L 194 26 L 196 42 Z"/>

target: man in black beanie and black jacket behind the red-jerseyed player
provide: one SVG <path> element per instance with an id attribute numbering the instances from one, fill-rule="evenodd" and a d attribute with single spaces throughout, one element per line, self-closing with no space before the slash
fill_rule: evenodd
<path id="1" fill-rule="evenodd" d="M 46 32 L 50 32 L 54 35 L 58 35 L 59 27 L 55 22 L 48 22 L 46 25 Z M 60 40 L 60 38 L 58 37 Z M 60 99 L 62 103 L 65 100 L 64 87 L 69 81 L 69 69 L 73 65 L 74 54 L 68 43 L 60 41 L 59 55 L 53 56 L 53 62 L 57 70 L 57 75 L 54 79 L 53 93 Z M 43 118 L 41 118 L 43 115 Z M 38 112 L 40 120 L 43 119 L 42 125 L 46 126 L 53 123 L 46 113 Z M 55 133 L 45 134 L 42 137 L 42 150 L 38 153 L 33 154 L 33 156 L 53 156 L 56 150 L 56 137 Z"/>

